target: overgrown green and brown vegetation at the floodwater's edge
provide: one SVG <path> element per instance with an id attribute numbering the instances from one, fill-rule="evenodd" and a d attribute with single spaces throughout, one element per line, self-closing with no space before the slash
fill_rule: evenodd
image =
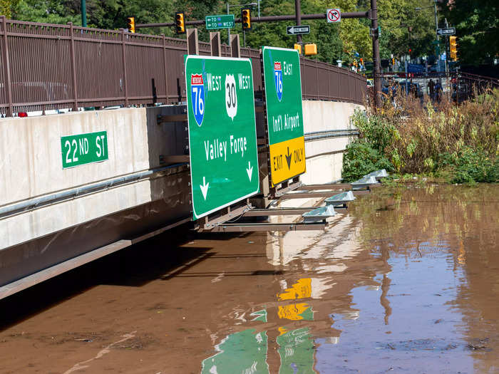
<path id="1" fill-rule="evenodd" d="M 394 104 L 396 103 L 396 104 Z M 344 155 L 344 179 L 386 168 L 451 183 L 499 182 L 499 90 L 461 105 L 399 95 L 356 112 L 361 133 Z"/>

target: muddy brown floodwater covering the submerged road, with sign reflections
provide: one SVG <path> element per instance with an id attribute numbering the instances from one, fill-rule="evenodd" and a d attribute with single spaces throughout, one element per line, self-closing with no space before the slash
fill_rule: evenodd
<path id="1" fill-rule="evenodd" d="M 499 187 L 178 229 L 0 302 L 0 373 L 499 373 Z"/>

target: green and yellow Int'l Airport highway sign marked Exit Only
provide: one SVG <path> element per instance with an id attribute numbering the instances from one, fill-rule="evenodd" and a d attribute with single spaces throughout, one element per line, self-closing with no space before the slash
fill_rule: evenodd
<path id="1" fill-rule="evenodd" d="M 263 47 L 272 187 L 305 172 L 302 79 L 294 49 Z"/>

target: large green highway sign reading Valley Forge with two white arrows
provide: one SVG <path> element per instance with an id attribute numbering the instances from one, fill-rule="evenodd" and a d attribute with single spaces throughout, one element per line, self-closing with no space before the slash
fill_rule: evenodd
<path id="1" fill-rule="evenodd" d="M 259 192 L 249 58 L 185 57 L 192 216 Z"/>

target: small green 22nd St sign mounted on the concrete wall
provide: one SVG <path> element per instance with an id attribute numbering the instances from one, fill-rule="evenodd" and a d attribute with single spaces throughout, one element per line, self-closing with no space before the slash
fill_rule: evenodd
<path id="1" fill-rule="evenodd" d="M 87 133 L 61 137 L 63 169 L 108 160 L 108 133 Z"/>

